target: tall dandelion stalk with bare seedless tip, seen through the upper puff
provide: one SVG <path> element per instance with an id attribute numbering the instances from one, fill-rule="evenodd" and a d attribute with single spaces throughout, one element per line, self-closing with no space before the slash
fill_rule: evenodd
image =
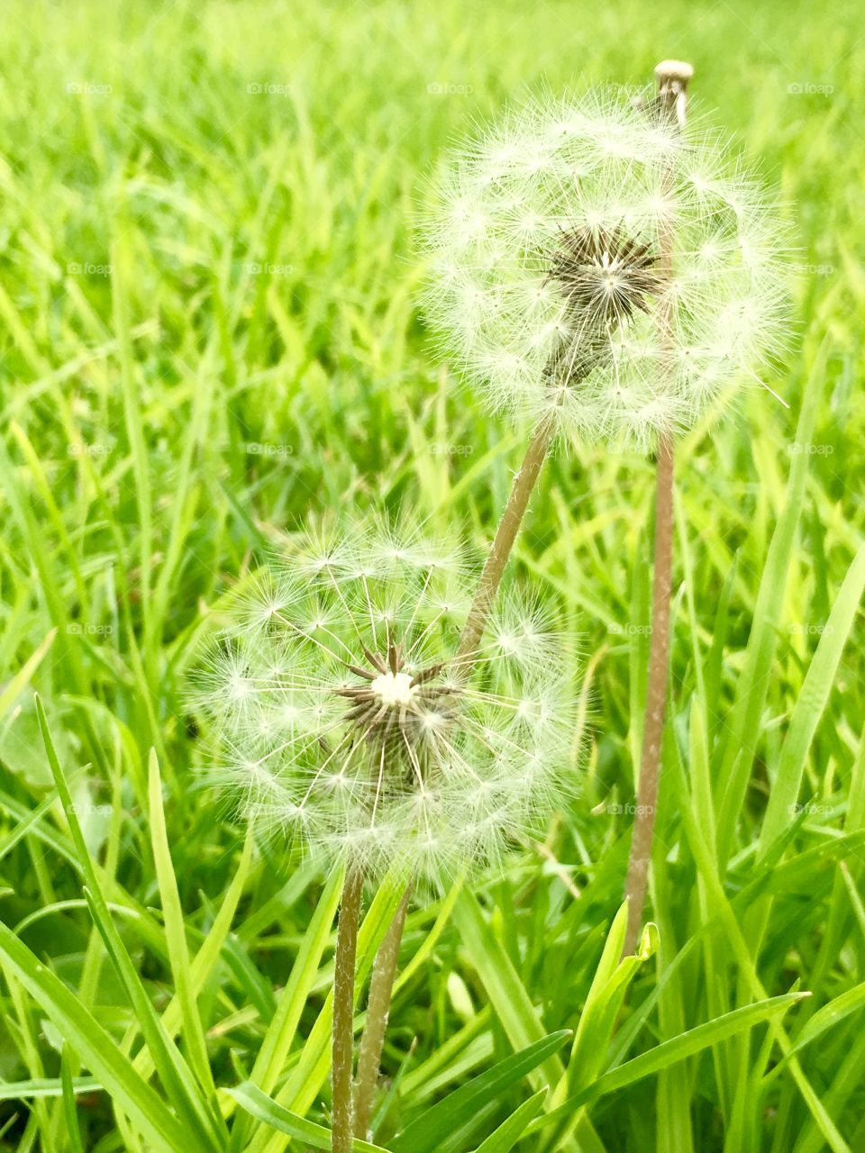
<path id="1" fill-rule="evenodd" d="M 679 128 L 685 122 L 687 82 L 692 74 L 693 69 L 690 65 L 677 60 L 664 60 L 655 68 L 659 115 L 668 118 Z M 674 172 L 671 169 L 669 173 L 670 184 L 672 184 L 672 180 Z M 668 226 L 659 238 L 660 273 L 665 280 L 669 280 L 674 272 L 672 241 L 672 228 Z M 669 300 L 665 297 L 661 299 L 657 325 L 659 340 L 671 360 L 672 317 Z M 670 589 L 672 580 L 674 440 L 669 431 L 659 434 L 655 469 L 655 571 L 652 589 L 652 645 L 646 684 L 640 776 L 637 785 L 637 812 L 631 834 L 631 852 L 625 881 L 627 928 L 623 956 L 635 951 L 642 925 L 661 777 L 661 747 L 670 663 Z"/>

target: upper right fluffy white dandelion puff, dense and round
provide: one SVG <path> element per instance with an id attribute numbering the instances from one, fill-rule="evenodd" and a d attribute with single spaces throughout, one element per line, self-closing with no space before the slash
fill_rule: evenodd
<path id="1" fill-rule="evenodd" d="M 495 409 L 654 447 L 784 346 L 770 199 L 699 118 L 680 128 L 648 96 L 511 111 L 436 201 L 427 314 Z"/>

